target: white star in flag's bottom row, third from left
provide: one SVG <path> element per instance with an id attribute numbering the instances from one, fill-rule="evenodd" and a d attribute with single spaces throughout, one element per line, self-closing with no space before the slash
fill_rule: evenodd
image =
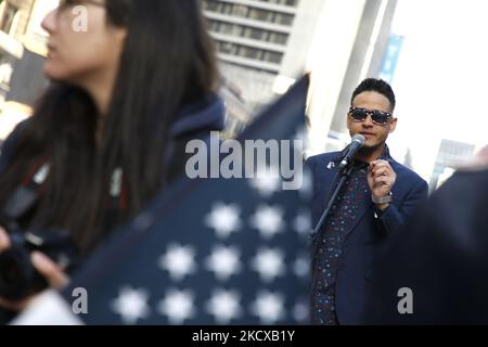
<path id="1" fill-rule="evenodd" d="M 207 303 L 207 311 L 218 324 L 229 324 L 242 314 L 241 295 L 235 291 L 218 290 Z"/>

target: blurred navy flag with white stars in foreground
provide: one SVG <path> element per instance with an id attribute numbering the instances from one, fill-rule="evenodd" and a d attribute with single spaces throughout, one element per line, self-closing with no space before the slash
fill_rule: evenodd
<path id="1" fill-rule="evenodd" d="M 240 138 L 303 133 L 309 77 Z M 309 179 L 183 180 L 99 249 L 63 292 L 88 292 L 87 324 L 308 322 Z"/>

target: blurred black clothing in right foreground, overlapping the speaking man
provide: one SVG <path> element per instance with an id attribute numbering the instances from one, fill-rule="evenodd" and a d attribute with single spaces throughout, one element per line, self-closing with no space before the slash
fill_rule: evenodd
<path id="1" fill-rule="evenodd" d="M 434 193 L 374 273 L 369 323 L 488 324 L 488 169 Z M 413 314 L 399 313 L 400 288 L 412 291 Z"/>

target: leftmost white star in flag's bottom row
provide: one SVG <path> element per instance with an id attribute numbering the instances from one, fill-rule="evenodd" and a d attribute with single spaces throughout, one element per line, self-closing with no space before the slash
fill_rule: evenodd
<path id="1" fill-rule="evenodd" d="M 149 295 L 144 290 L 129 286 L 120 290 L 119 296 L 112 301 L 112 310 L 121 316 L 124 324 L 136 324 L 140 319 L 149 318 Z"/>

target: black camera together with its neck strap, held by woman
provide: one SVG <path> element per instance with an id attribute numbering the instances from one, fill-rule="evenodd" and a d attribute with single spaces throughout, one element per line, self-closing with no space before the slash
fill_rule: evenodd
<path id="1" fill-rule="evenodd" d="M 73 270 L 78 256 L 77 247 L 66 232 L 27 227 L 48 172 L 49 165 L 43 165 L 33 180 L 18 187 L 0 209 L 0 227 L 9 232 L 11 241 L 11 247 L 0 253 L 0 297 L 11 301 L 48 287 L 47 280 L 30 261 L 33 252 L 46 254 L 66 271 Z"/>

